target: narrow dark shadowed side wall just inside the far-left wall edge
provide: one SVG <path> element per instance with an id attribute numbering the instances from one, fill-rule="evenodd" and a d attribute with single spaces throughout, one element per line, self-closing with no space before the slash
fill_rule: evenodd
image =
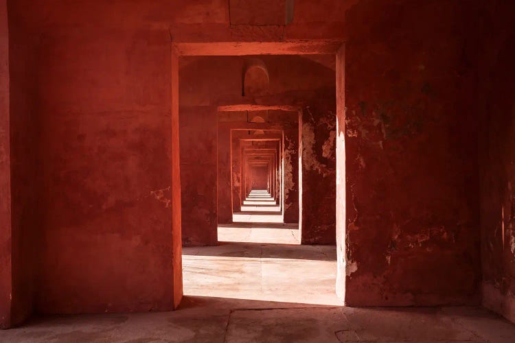
<path id="1" fill-rule="evenodd" d="M 10 167 L 12 226 L 11 324 L 34 311 L 37 290 L 41 222 L 40 121 L 38 117 L 39 39 L 16 14 L 10 14 Z"/>

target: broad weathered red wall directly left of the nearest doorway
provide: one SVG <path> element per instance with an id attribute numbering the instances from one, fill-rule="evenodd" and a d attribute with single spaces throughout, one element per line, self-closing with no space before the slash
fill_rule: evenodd
<path id="1" fill-rule="evenodd" d="M 170 60 L 167 30 L 43 34 L 38 311 L 172 309 Z"/>

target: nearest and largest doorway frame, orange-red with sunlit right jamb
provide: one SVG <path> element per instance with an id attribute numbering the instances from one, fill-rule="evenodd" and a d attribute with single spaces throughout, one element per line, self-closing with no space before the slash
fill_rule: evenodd
<path id="1" fill-rule="evenodd" d="M 174 308 L 183 297 L 181 239 L 181 174 L 179 159 L 179 57 L 247 55 L 335 55 L 336 56 L 336 294 L 345 305 L 347 278 L 346 180 L 345 180 L 345 43 L 341 40 L 293 40 L 283 42 L 214 42 L 171 44 L 170 93 L 172 95 L 172 268 Z"/>

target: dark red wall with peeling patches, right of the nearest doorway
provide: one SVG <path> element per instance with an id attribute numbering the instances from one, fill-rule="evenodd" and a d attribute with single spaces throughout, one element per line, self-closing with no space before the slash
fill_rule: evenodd
<path id="1" fill-rule="evenodd" d="M 474 15 L 469 1 L 347 12 L 347 305 L 479 303 Z"/>

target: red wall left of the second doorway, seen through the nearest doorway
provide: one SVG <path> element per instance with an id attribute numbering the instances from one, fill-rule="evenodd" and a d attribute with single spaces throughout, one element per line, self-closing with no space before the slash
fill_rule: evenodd
<path id="1" fill-rule="evenodd" d="M 182 240 L 185 246 L 216 245 L 216 106 L 199 92 L 209 69 L 197 58 L 181 58 L 179 123 L 181 130 Z"/>

